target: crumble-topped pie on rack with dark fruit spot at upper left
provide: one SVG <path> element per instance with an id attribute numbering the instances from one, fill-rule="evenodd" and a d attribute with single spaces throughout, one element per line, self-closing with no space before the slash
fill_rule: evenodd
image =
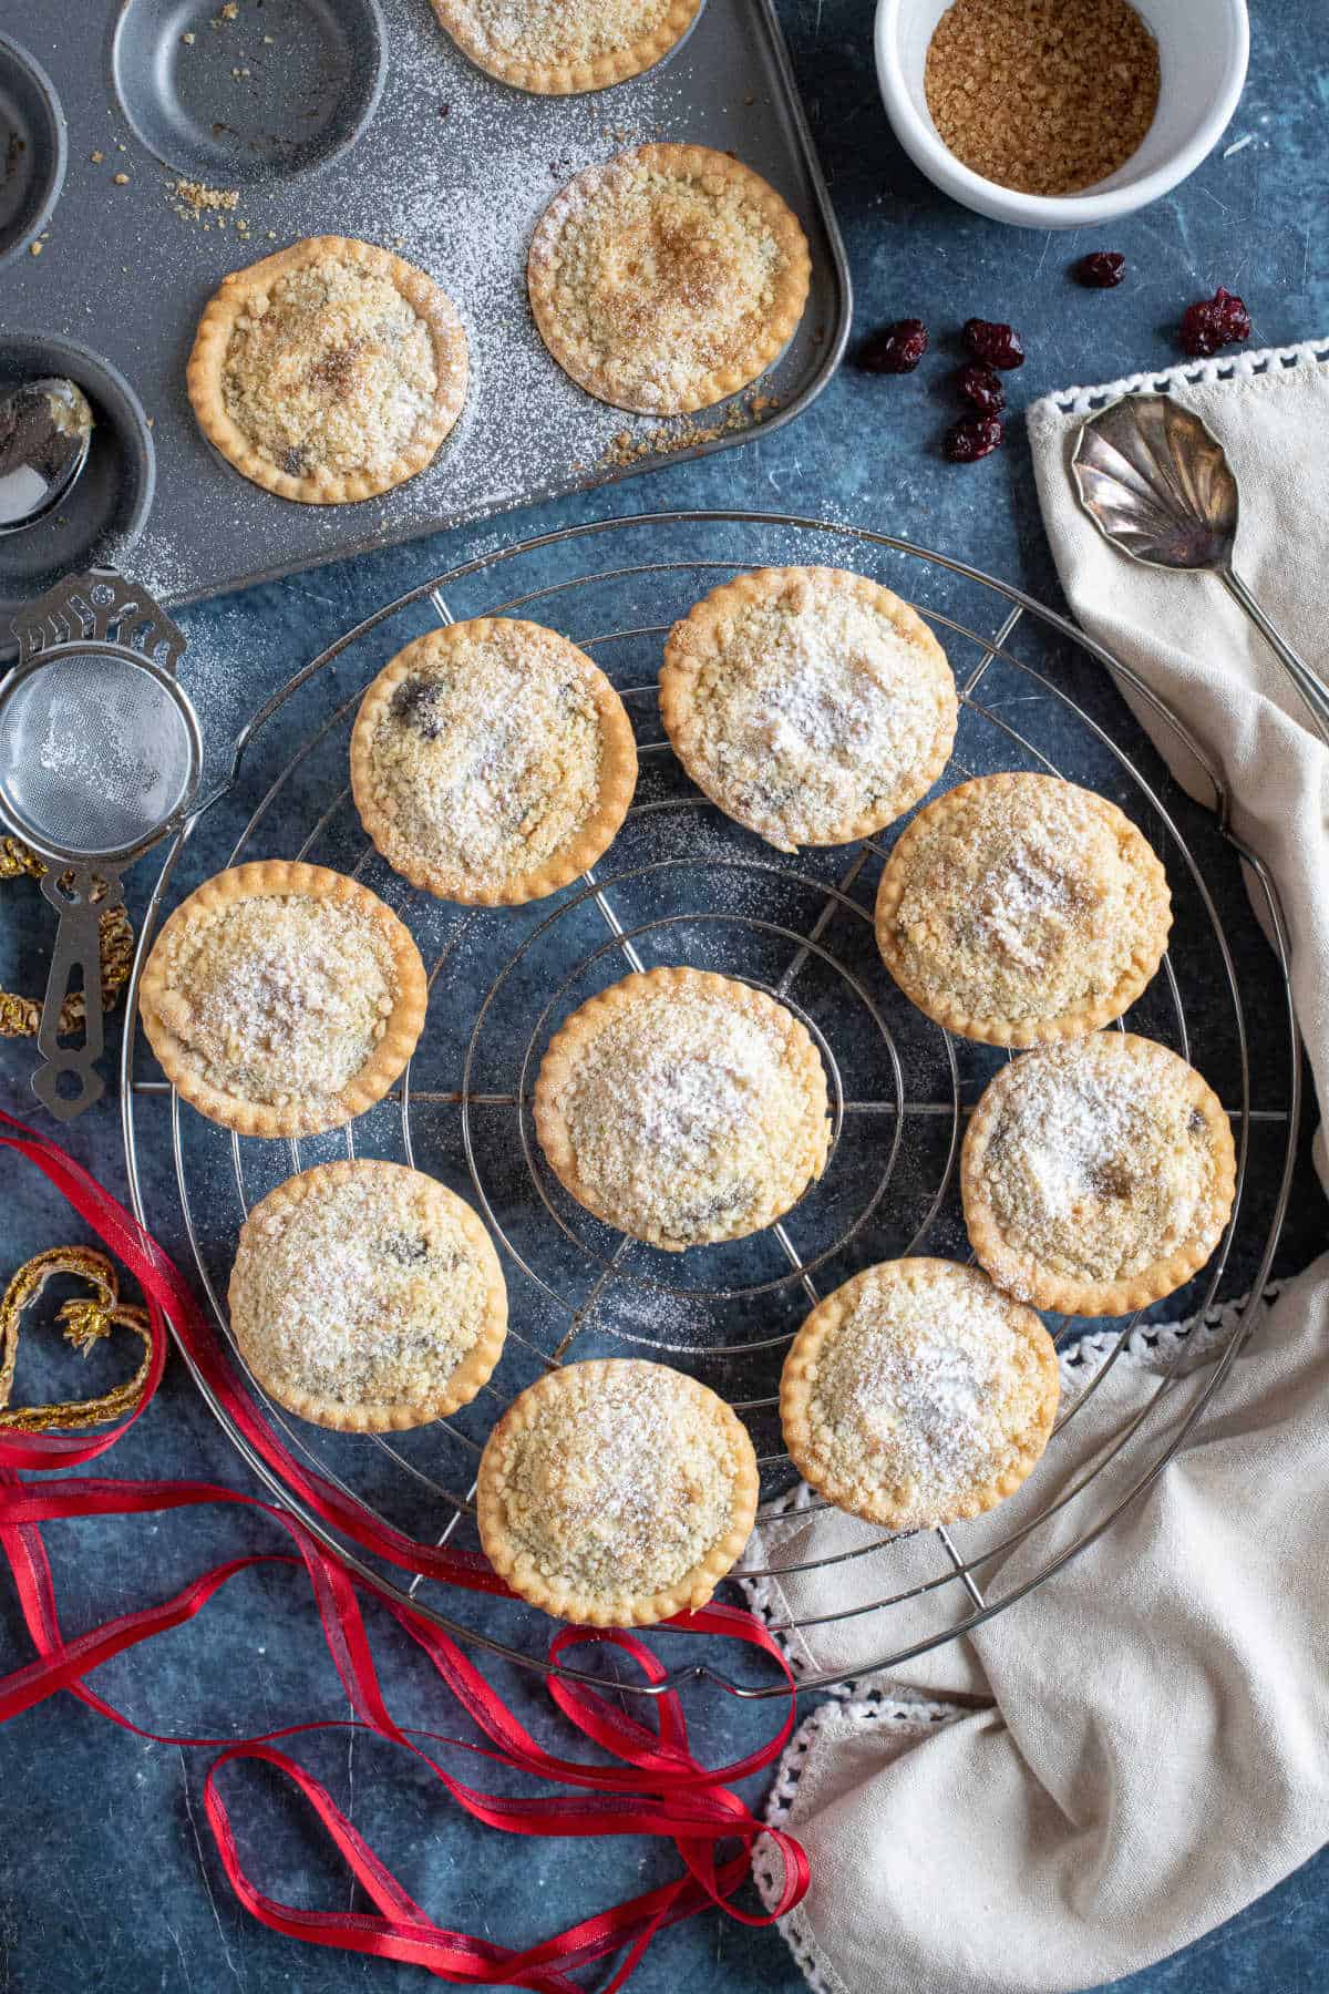
<path id="1" fill-rule="evenodd" d="M 556 630 L 482 616 L 406 644 L 351 734 L 351 788 L 389 865 L 442 899 L 516 905 L 584 873 L 638 782 L 614 686 Z"/>

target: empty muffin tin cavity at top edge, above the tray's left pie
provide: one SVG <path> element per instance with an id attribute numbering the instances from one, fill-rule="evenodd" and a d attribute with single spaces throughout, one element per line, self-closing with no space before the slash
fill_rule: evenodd
<path id="1" fill-rule="evenodd" d="M 387 70 L 377 0 L 128 0 L 112 38 L 135 136 L 187 179 L 285 179 L 353 146 Z"/>

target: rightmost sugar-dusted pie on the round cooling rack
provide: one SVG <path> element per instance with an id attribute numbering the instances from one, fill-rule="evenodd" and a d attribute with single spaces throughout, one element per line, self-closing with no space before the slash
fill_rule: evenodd
<path id="1" fill-rule="evenodd" d="M 964 1133 L 960 1196 L 992 1280 L 1034 1308 L 1124 1316 L 1196 1274 L 1231 1216 L 1213 1089 L 1154 1039 L 1100 1031 L 1026 1053 Z"/>

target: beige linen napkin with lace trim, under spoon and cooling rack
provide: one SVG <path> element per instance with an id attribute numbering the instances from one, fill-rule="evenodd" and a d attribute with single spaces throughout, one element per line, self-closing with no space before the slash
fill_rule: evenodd
<path id="1" fill-rule="evenodd" d="M 1028 427 L 1076 616 L 1186 718 L 1225 774 L 1233 828 L 1273 871 L 1323 1111 L 1329 754 L 1221 586 L 1130 564 L 1078 510 L 1066 477 L 1068 439 L 1104 399 L 1168 389 L 1197 409 L 1241 485 L 1237 564 L 1323 674 L 1321 351 L 1329 345 L 1070 389 L 1036 403 Z M 1140 720 L 1203 796 L 1203 776 L 1144 702 Z M 1221 1320 L 1196 1326 L 1182 1372 L 1160 1376 L 1176 1346 L 1174 1332 L 1136 1336 L 1108 1370 L 1104 1338 L 1072 1352 L 1062 1378 L 1068 1402 L 1082 1396 L 1074 1422 L 1026 1490 L 958 1525 L 956 1541 L 964 1553 L 1004 1543 L 1108 1456 L 1130 1418 L 1176 1420 L 1227 1350 L 1227 1376 L 1186 1452 L 1112 1529 L 970 1637 L 889 1681 L 859 1679 L 785 1755 L 771 1819 L 805 1842 L 813 1884 L 783 1928 L 815 1988 L 1078 1994 L 1197 1938 L 1329 1838 L 1329 1254 L 1261 1308 L 1235 1362 Z M 1130 1492 L 1140 1462 L 1134 1448 L 1110 1460 L 1096 1513 L 1106 1486 Z M 988 1589 L 1006 1595 L 1082 1529 L 1072 1499 L 984 1567 Z M 795 1499 L 763 1525 L 749 1563 L 823 1559 L 863 1543 L 863 1531 Z M 934 1539 L 751 1589 L 773 1623 L 809 1621 L 899 1593 L 911 1571 L 936 1571 Z M 909 1611 L 891 1613 L 893 1645 L 909 1633 Z M 861 1673 L 883 1645 L 873 1619 L 837 1617 L 789 1637 L 795 1665 Z M 921 1607 L 919 1633 L 934 1625 L 934 1605 Z M 777 1862 L 767 1844 L 767 1896 Z"/>

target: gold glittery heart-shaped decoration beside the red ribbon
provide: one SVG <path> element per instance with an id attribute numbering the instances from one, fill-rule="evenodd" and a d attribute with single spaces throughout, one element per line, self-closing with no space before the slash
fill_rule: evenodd
<path id="1" fill-rule="evenodd" d="M 143 1344 L 143 1362 L 133 1378 L 100 1398 L 62 1400 L 58 1406 L 10 1406 L 18 1332 L 24 1310 L 36 1302 L 52 1274 L 76 1274 L 92 1288 L 92 1300 L 66 1302 L 56 1322 L 64 1326 L 66 1342 L 84 1356 L 114 1328 L 133 1330 Z M 92 1246 L 48 1246 L 20 1266 L 0 1300 L 0 1430 L 42 1434 L 70 1426 L 108 1426 L 133 1412 L 143 1396 L 151 1368 L 151 1326 L 143 1308 L 120 1300 L 120 1280 L 106 1254 Z"/>

